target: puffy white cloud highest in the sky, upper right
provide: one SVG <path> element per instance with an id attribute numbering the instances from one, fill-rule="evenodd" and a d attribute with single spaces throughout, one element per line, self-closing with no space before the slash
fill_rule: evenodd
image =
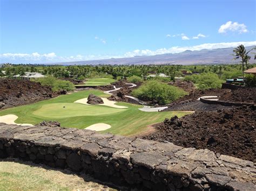
<path id="1" fill-rule="evenodd" d="M 248 32 L 247 27 L 244 23 L 239 24 L 238 22 L 228 21 L 219 28 L 219 33 L 226 33 L 227 31 L 238 32 L 239 34 Z"/>

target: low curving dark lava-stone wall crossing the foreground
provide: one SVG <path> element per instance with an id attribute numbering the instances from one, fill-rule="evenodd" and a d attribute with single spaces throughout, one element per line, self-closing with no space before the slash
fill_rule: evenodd
<path id="1" fill-rule="evenodd" d="M 90 130 L 0 123 L 0 158 L 85 172 L 144 190 L 256 190 L 253 162 Z"/>

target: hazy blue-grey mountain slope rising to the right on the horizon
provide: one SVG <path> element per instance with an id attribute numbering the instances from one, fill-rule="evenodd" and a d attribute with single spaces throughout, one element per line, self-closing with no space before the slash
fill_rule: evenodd
<path id="1" fill-rule="evenodd" d="M 247 50 L 254 46 L 246 47 Z M 255 52 L 255 51 L 254 51 Z M 201 49 L 200 51 L 184 51 L 176 54 L 159 54 L 152 56 L 134 56 L 131 58 L 111 58 L 104 60 L 89 60 L 75 62 L 50 63 L 54 65 L 200 65 L 200 64 L 225 64 L 239 63 L 234 60 L 233 48 Z M 251 54 L 251 63 L 255 63 L 254 54 Z"/>

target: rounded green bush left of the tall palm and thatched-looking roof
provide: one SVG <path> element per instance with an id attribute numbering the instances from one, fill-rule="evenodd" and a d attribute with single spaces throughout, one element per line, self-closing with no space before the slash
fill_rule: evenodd
<path id="1" fill-rule="evenodd" d="M 199 89 L 221 88 L 222 80 L 219 79 L 217 74 L 203 73 L 200 74 L 197 81 Z"/>

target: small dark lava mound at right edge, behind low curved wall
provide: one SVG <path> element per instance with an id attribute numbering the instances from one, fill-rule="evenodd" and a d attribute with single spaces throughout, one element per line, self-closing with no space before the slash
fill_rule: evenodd
<path id="1" fill-rule="evenodd" d="M 256 103 L 256 88 L 240 88 L 232 90 L 229 93 L 222 95 L 220 100 Z"/>

